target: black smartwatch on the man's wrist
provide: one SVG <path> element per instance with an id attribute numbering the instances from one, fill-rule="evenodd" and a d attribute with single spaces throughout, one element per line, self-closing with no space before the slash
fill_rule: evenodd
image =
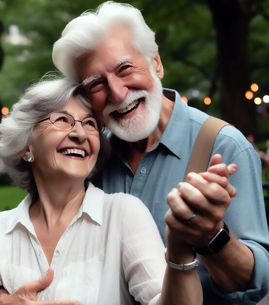
<path id="1" fill-rule="evenodd" d="M 229 235 L 229 229 L 223 222 L 223 228 L 220 229 L 207 246 L 202 248 L 194 248 L 194 250 L 201 255 L 213 255 L 217 254 L 231 239 Z"/>

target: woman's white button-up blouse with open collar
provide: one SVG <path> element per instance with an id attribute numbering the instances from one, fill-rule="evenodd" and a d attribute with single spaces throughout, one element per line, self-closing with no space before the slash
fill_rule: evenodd
<path id="1" fill-rule="evenodd" d="M 30 205 L 28 195 L 16 209 L 0 212 L 0 285 L 9 293 L 49 268 Z M 54 280 L 38 300 L 131 305 L 132 294 L 142 305 L 155 305 L 166 267 L 163 250 L 155 222 L 138 198 L 106 194 L 90 184 L 55 248 Z"/>

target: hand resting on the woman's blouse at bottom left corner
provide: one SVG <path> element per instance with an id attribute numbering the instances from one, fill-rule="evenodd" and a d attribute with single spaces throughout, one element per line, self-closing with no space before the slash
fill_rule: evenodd
<path id="1" fill-rule="evenodd" d="M 82 305 L 78 301 L 37 301 L 38 291 L 47 288 L 53 281 L 54 270 L 49 268 L 41 279 L 21 286 L 17 291 L 8 294 L 0 289 L 0 305 Z"/>

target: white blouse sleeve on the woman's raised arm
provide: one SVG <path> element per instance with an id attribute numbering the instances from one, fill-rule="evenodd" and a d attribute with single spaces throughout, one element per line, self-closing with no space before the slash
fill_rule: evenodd
<path id="1" fill-rule="evenodd" d="M 121 251 L 129 292 L 142 305 L 157 305 L 166 268 L 164 245 L 157 226 L 143 203 L 126 205 Z"/>

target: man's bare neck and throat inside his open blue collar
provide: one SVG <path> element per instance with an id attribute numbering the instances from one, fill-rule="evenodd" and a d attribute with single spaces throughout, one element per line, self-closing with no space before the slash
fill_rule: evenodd
<path id="1" fill-rule="evenodd" d="M 143 140 L 126 143 L 126 159 L 133 173 L 136 172 L 143 155 L 154 149 L 160 142 L 161 135 L 164 132 L 173 112 L 174 105 L 174 101 L 163 95 L 160 120 L 153 133 Z"/>

